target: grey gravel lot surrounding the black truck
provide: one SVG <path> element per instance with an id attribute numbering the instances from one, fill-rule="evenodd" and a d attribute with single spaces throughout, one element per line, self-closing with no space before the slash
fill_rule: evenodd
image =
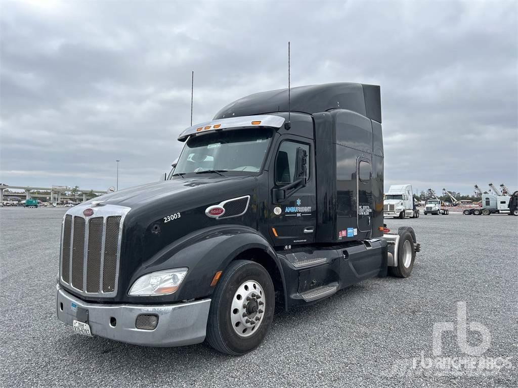
<path id="1" fill-rule="evenodd" d="M 371 279 L 277 314 L 260 348 L 231 357 L 206 345 L 144 348 L 91 339 L 58 321 L 54 292 L 65 211 L 0 208 L 0 386 L 518 385 L 518 217 L 386 219 L 389 228 L 412 226 L 421 243 L 410 278 Z M 468 323 L 491 332 L 481 357 L 511 357 L 512 368 L 455 376 L 420 367 L 422 356 L 432 357 L 434 323 L 456 322 L 458 301 L 467 304 Z M 467 357 L 456 338 L 443 334 L 443 357 Z M 471 332 L 468 340 L 475 346 L 481 337 Z"/>

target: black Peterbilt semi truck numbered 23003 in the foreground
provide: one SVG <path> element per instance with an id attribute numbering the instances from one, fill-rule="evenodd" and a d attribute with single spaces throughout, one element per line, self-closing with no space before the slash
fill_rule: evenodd
<path id="1" fill-rule="evenodd" d="M 57 317 L 146 346 L 257 347 L 275 305 L 304 306 L 364 279 L 408 277 L 419 244 L 383 224 L 380 87 L 254 94 L 179 136 L 164 182 L 71 208 Z M 380 311 L 380 314 L 382 311 Z"/>

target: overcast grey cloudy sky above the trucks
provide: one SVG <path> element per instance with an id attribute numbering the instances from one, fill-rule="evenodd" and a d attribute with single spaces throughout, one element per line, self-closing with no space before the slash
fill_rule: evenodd
<path id="1" fill-rule="evenodd" d="M 518 189 L 518 10 L 485 2 L 2 1 L 0 182 L 157 181 L 239 97 L 381 85 L 385 186 Z"/>

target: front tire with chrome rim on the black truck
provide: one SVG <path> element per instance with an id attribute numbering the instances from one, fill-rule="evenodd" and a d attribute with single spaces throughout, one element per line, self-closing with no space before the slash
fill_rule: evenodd
<path id="1" fill-rule="evenodd" d="M 207 342 L 222 353 L 248 353 L 263 341 L 274 311 L 274 283 L 265 268 L 249 260 L 233 261 L 212 294 Z"/>

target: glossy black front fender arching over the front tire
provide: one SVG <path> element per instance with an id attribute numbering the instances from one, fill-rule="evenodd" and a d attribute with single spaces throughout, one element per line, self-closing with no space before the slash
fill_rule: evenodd
<path id="1" fill-rule="evenodd" d="M 127 296 L 127 299 L 169 303 L 207 297 L 214 291 L 214 287 L 210 287 L 214 274 L 224 271 L 241 252 L 249 249 L 261 249 L 275 261 L 285 289 L 279 258 L 266 238 L 255 229 L 231 224 L 200 229 L 172 242 L 143 262 L 131 278 L 130 287 L 137 278 L 150 272 L 187 267 L 189 271 L 177 292 L 163 296 Z"/>

